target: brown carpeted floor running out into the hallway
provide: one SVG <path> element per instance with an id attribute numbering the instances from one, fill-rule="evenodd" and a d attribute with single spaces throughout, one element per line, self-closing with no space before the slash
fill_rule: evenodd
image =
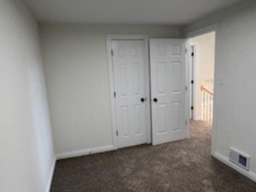
<path id="1" fill-rule="evenodd" d="M 211 127 L 191 138 L 60 160 L 51 192 L 256 192 L 256 183 L 210 155 Z"/>

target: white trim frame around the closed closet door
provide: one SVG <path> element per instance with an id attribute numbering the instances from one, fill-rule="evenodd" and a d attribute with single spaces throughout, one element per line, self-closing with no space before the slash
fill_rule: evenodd
<path id="1" fill-rule="evenodd" d="M 149 80 L 149 59 L 148 59 L 148 36 L 147 35 L 125 35 L 107 34 L 108 74 L 110 84 L 111 115 L 112 115 L 112 142 L 114 150 L 118 149 L 117 127 L 116 127 L 116 104 L 114 97 L 114 73 L 112 60 L 112 40 L 144 40 L 144 61 L 145 61 L 145 95 L 146 95 L 146 142 L 151 143 L 151 118 L 150 118 L 150 80 Z"/>

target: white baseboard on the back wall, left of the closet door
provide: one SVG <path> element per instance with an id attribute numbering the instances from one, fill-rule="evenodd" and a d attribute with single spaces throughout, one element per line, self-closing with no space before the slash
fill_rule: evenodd
<path id="1" fill-rule="evenodd" d="M 114 149 L 115 148 L 113 145 L 105 145 L 105 146 L 94 147 L 94 148 L 86 148 L 86 149 L 81 149 L 81 150 L 62 152 L 62 153 L 57 154 L 56 158 L 57 158 L 57 160 L 60 160 L 60 159 L 84 156 L 84 155 L 89 155 L 89 154 L 107 152 L 107 151 L 111 151 Z"/>

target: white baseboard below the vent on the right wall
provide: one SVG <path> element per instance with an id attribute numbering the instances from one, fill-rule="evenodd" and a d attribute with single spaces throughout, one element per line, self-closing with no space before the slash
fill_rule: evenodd
<path id="1" fill-rule="evenodd" d="M 222 163 L 226 164 L 227 166 L 233 168 L 234 170 L 236 170 L 240 174 L 248 177 L 250 180 L 253 180 L 254 182 L 256 182 L 256 174 L 254 172 L 246 171 L 243 168 L 237 166 L 236 164 L 233 164 L 232 162 L 230 162 L 230 160 L 226 156 L 224 156 L 224 155 L 222 155 L 222 154 L 220 154 L 216 151 L 212 154 L 212 156 L 214 158 L 216 158 L 217 160 L 219 160 L 220 162 L 222 162 Z"/>

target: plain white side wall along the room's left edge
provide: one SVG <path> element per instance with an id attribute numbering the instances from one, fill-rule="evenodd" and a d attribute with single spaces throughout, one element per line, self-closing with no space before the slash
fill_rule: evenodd
<path id="1" fill-rule="evenodd" d="M 46 192 L 54 160 L 38 26 L 0 0 L 0 191 Z"/>

